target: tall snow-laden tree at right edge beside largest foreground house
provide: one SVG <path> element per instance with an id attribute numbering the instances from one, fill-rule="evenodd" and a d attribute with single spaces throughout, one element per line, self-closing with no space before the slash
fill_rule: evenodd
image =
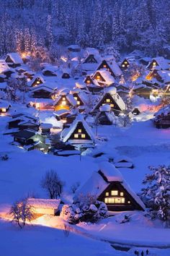
<path id="1" fill-rule="evenodd" d="M 151 174 L 143 180 L 146 187 L 141 196 L 148 207 L 148 214 L 152 219 L 164 221 L 170 226 L 170 166 L 149 166 Z"/>

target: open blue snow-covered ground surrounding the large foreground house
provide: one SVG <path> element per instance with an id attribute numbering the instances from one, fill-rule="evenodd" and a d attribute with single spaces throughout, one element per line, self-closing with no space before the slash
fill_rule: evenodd
<path id="1" fill-rule="evenodd" d="M 29 110 L 31 111 L 31 110 Z M 143 116 L 143 120 L 145 116 Z M 71 185 L 75 182 L 84 184 L 93 171 L 97 171 L 99 161 L 109 155 L 125 155 L 133 161 L 135 168 L 120 168 L 125 180 L 135 192 L 140 192 L 142 181 L 148 173 L 148 166 L 170 164 L 170 129 L 156 129 L 151 120 L 133 122 L 131 127 L 114 126 L 98 127 L 98 136 L 107 138 L 107 142 L 97 142 L 98 152 L 104 152 L 99 158 L 91 155 L 78 155 L 68 158 L 44 154 L 37 150 L 25 152 L 10 145 L 12 137 L 3 135 L 8 116 L 0 116 L 0 156 L 9 155 L 8 161 L 0 161 L 0 213 L 9 211 L 15 200 L 27 195 L 47 197 L 40 187 L 40 180 L 46 171 L 55 169 L 65 183 L 63 199 L 71 201 Z M 95 132 L 95 129 L 94 129 Z M 52 227 L 28 226 L 20 231 L 11 223 L 0 222 L 0 247 L 4 256 L 12 255 L 133 255 L 133 252 L 115 251 L 108 243 L 124 242 L 143 246 L 170 247 L 170 231 L 161 228 L 160 223 L 146 219 L 142 213 L 133 213 L 130 223 L 119 224 L 115 216 L 95 225 L 79 224 L 77 231 L 89 234 L 86 236 L 71 234 L 67 238 L 63 231 Z M 121 216 L 120 216 L 121 218 Z M 41 224 L 41 223 L 40 223 Z M 9 241 L 10 240 L 10 247 Z M 79 246 L 81 244 L 81 246 Z M 76 246 L 76 249 L 75 249 Z M 18 249 L 20 248 L 20 252 Z M 154 251 L 152 255 L 170 255 L 167 249 Z"/>

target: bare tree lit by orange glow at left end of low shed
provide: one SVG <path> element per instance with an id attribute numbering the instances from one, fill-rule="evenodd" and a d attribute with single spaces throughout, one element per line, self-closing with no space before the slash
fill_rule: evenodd
<path id="1" fill-rule="evenodd" d="M 31 221 L 34 217 L 34 213 L 30 205 L 27 204 L 27 199 L 14 202 L 10 210 L 13 221 L 22 229 L 25 226 L 26 221 Z"/>

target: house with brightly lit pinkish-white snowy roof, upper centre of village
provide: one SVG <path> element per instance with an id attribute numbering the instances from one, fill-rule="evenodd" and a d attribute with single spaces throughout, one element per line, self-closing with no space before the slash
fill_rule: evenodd
<path id="1" fill-rule="evenodd" d="M 94 75 L 92 76 L 93 80 L 97 80 L 98 84 L 103 86 L 109 86 L 115 83 L 114 77 L 112 77 L 112 74 L 110 74 L 107 69 L 100 69 L 94 72 Z"/>

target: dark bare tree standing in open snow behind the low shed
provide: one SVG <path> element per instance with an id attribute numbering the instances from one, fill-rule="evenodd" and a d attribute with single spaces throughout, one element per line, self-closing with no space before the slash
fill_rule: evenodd
<path id="1" fill-rule="evenodd" d="M 47 171 L 42 178 L 41 187 L 46 189 L 50 199 L 58 198 L 63 191 L 63 182 L 54 170 Z"/>

